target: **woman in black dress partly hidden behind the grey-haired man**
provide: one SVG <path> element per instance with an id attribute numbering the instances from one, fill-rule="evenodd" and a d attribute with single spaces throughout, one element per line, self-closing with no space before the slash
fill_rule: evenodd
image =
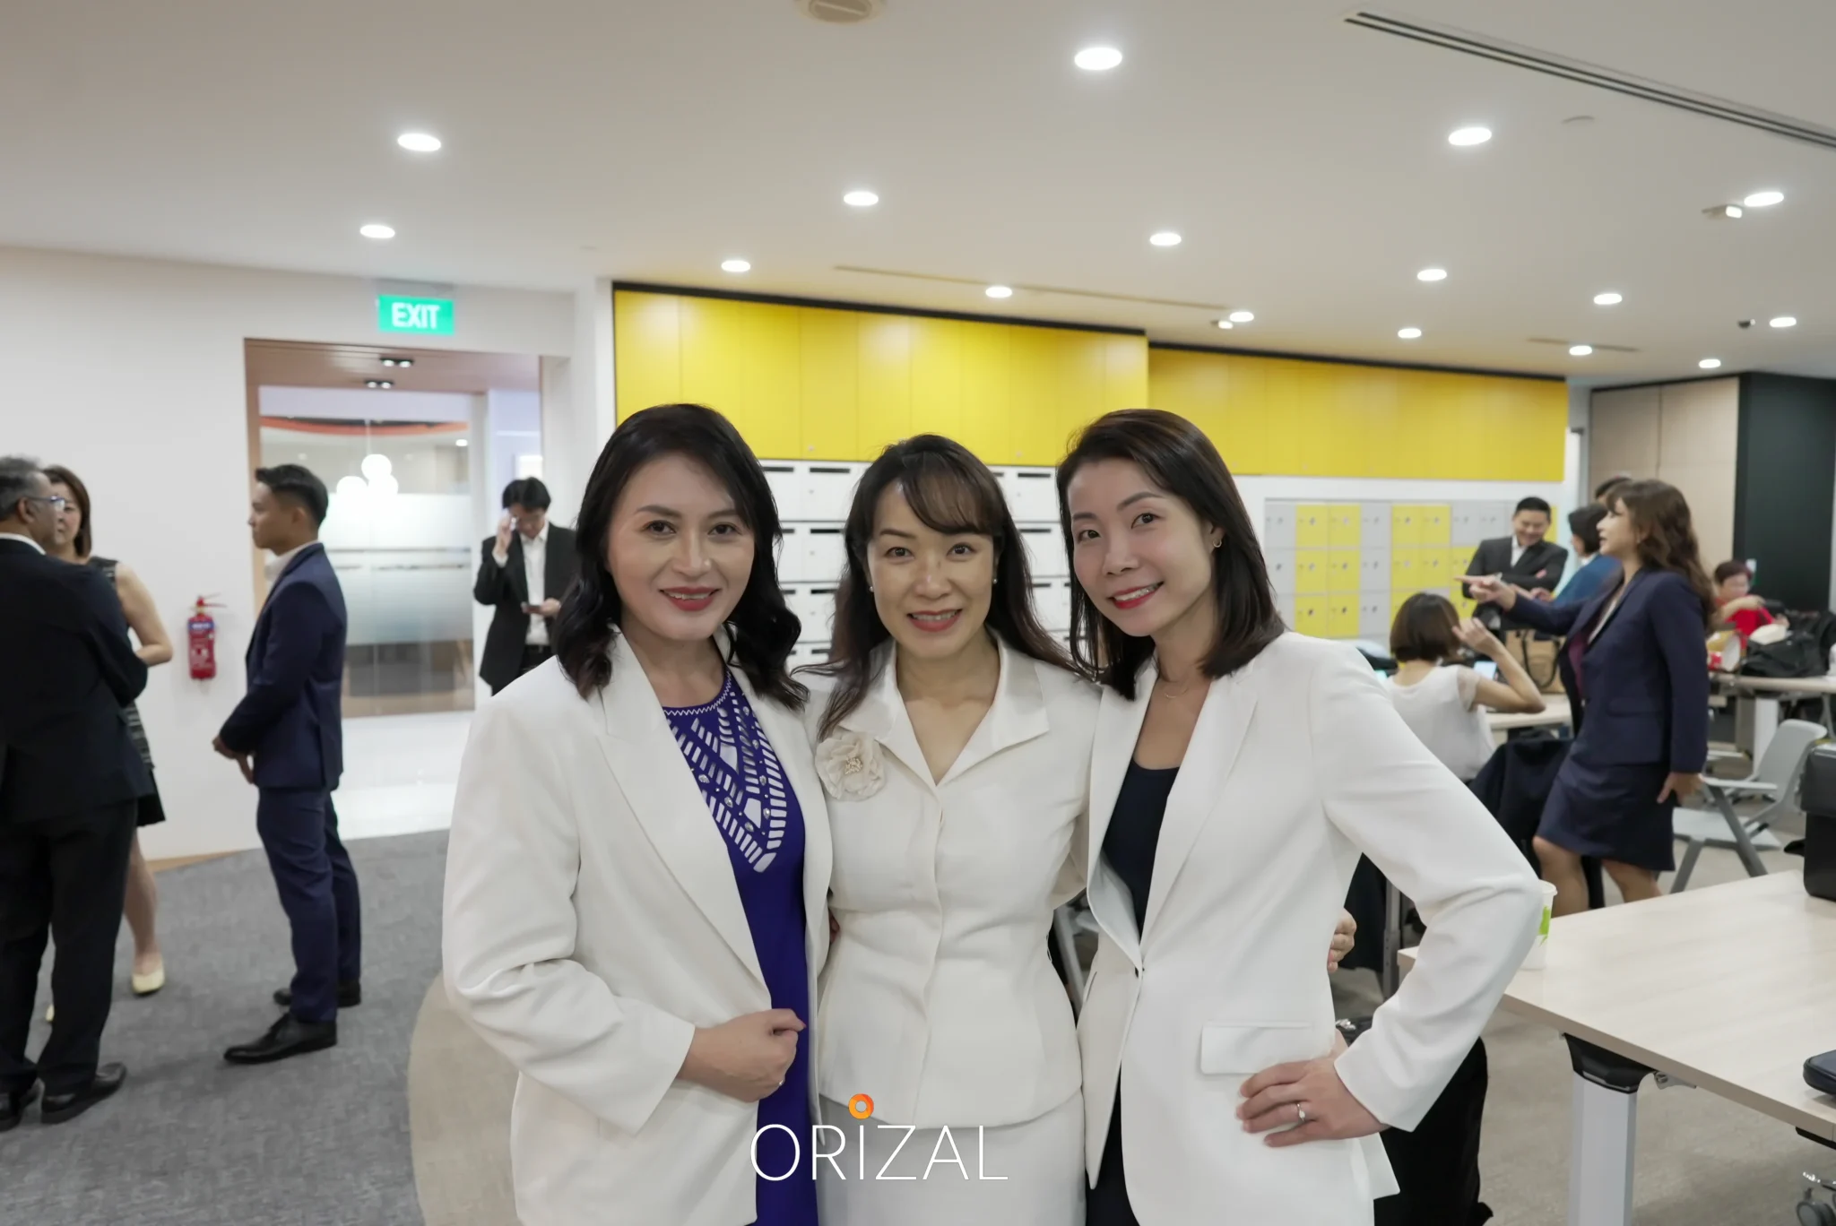
<path id="1" fill-rule="evenodd" d="M 114 558 L 97 558 L 90 552 L 95 536 L 90 530 L 88 486 L 83 485 L 77 474 L 57 464 L 46 468 L 44 474 L 51 479 L 51 492 L 64 499 L 51 556 L 101 571 L 114 584 L 116 595 L 121 596 L 121 611 L 127 615 L 127 624 L 140 641 L 136 655 L 149 668 L 171 661 L 173 641 L 160 622 L 160 609 L 152 602 L 147 585 L 125 563 Z M 140 710 L 129 703 L 123 714 L 127 716 L 129 732 L 134 736 L 134 745 L 140 749 L 140 760 L 147 763 L 151 776 L 152 751 L 147 747 L 147 729 L 140 721 Z M 141 797 L 138 824 L 152 826 L 163 820 L 165 809 L 160 806 L 160 793 L 152 791 Z M 129 982 L 136 997 L 151 997 L 165 987 L 165 958 L 160 954 L 160 936 L 154 927 L 158 907 L 160 894 L 152 883 L 152 870 L 147 868 L 147 857 L 140 853 L 140 835 L 136 833 L 134 850 L 129 855 L 125 907 L 127 927 L 134 932 L 134 969 Z"/>

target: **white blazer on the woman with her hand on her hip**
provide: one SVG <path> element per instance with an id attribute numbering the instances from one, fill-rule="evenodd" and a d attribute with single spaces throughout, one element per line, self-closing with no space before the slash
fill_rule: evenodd
<path id="1" fill-rule="evenodd" d="M 1386 1125 L 1421 1121 L 1529 949 L 1537 879 L 1491 813 L 1434 760 L 1348 646 L 1282 635 L 1212 683 L 1155 852 L 1146 923 L 1098 855 L 1153 692 L 1103 692 L 1091 765 L 1089 896 L 1102 925 L 1080 1019 L 1089 1171 L 1116 1081 L 1129 1198 L 1144 1226 L 1348 1226 L 1395 1191 L 1383 1145 L 1271 1149 L 1239 1087 L 1327 1055 L 1320 951 L 1359 852 L 1428 921 L 1401 991 L 1338 1057 Z"/>

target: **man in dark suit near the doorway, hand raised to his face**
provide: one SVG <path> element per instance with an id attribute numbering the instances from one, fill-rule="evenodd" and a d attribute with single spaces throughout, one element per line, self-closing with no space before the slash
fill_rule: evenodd
<path id="1" fill-rule="evenodd" d="M 498 611 L 477 675 L 498 694 L 554 655 L 554 615 L 580 563 L 575 534 L 549 523 L 549 490 L 536 477 L 503 486 L 503 519 L 481 552 L 472 598 Z"/>

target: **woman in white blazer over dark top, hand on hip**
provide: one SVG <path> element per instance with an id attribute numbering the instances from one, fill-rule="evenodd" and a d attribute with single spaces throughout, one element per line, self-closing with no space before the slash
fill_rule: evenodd
<path id="1" fill-rule="evenodd" d="M 1080 1017 L 1091 1226 L 1353 1226 L 1529 947 L 1529 864 L 1348 646 L 1283 633 L 1217 450 L 1111 413 L 1058 475 L 1103 677 Z M 1335 1055 L 1318 947 L 1359 853 L 1428 932 Z"/>

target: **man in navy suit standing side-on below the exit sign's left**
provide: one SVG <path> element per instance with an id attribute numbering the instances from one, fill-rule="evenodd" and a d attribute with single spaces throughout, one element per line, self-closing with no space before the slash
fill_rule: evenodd
<path id="1" fill-rule="evenodd" d="M 261 789 L 255 830 L 294 932 L 294 982 L 274 995 L 286 1013 L 231 1064 L 318 1052 L 338 1042 L 338 1009 L 358 1004 L 362 973 L 356 872 L 338 839 L 332 789 L 343 771 L 345 604 L 319 545 L 330 499 L 299 464 L 255 470 L 248 518 L 274 554 L 274 587 L 248 646 L 248 694 L 215 749 Z"/>

